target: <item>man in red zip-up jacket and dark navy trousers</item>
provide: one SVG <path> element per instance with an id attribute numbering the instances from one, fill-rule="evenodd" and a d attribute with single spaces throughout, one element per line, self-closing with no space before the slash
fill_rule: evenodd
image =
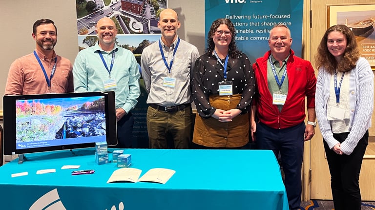
<path id="1" fill-rule="evenodd" d="M 252 106 L 251 136 L 258 149 L 271 149 L 276 157 L 280 152 L 289 208 L 298 210 L 304 141 L 315 134 L 316 78 L 311 63 L 295 56 L 291 45 L 289 28 L 275 25 L 270 32 L 270 51 L 253 64 L 258 91 Z"/>

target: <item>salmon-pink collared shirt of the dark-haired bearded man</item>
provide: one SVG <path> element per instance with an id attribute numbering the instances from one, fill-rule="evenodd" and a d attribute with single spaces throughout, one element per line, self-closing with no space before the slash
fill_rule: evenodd
<path id="1" fill-rule="evenodd" d="M 57 58 L 55 74 L 49 90 L 43 70 L 34 53 L 16 59 L 9 68 L 5 95 L 31 95 L 43 93 L 73 92 L 72 63 L 66 58 L 53 53 L 49 60 L 42 52 L 36 50 L 48 77 L 51 75 L 55 58 Z"/>

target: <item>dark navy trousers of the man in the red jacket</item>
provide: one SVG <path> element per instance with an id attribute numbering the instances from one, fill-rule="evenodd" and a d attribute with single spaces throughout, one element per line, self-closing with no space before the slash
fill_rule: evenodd
<path id="1" fill-rule="evenodd" d="M 303 146 L 305 122 L 296 126 L 275 129 L 258 123 L 256 125 L 255 143 L 258 149 L 271 149 L 276 158 L 280 152 L 281 165 L 284 170 L 284 185 L 287 190 L 289 208 L 299 209 L 301 204 Z"/>

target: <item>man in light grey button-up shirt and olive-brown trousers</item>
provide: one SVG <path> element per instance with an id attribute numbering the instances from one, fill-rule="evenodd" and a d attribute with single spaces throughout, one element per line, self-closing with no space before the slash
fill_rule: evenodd
<path id="1" fill-rule="evenodd" d="M 199 57 L 198 49 L 181 40 L 177 29 L 181 23 L 177 13 L 165 9 L 160 13 L 158 42 L 142 53 L 141 67 L 147 98 L 147 131 L 150 148 L 189 147 L 192 131 L 190 70 Z"/>

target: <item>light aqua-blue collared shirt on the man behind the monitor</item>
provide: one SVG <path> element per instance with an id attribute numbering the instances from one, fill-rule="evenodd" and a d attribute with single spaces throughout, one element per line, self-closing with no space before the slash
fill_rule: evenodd
<path id="1" fill-rule="evenodd" d="M 92 47 L 81 50 L 74 62 L 74 91 L 95 92 L 104 91 L 104 82 L 109 79 L 109 73 L 100 58 L 102 52 L 108 69 L 111 65 L 112 54 L 115 53 L 111 79 L 116 80 L 116 108 L 123 108 L 126 113 L 137 105 L 140 95 L 139 78 L 141 77 L 138 63 L 132 52 L 115 44 L 110 52 L 103 51 L 96 43 Z"/>

